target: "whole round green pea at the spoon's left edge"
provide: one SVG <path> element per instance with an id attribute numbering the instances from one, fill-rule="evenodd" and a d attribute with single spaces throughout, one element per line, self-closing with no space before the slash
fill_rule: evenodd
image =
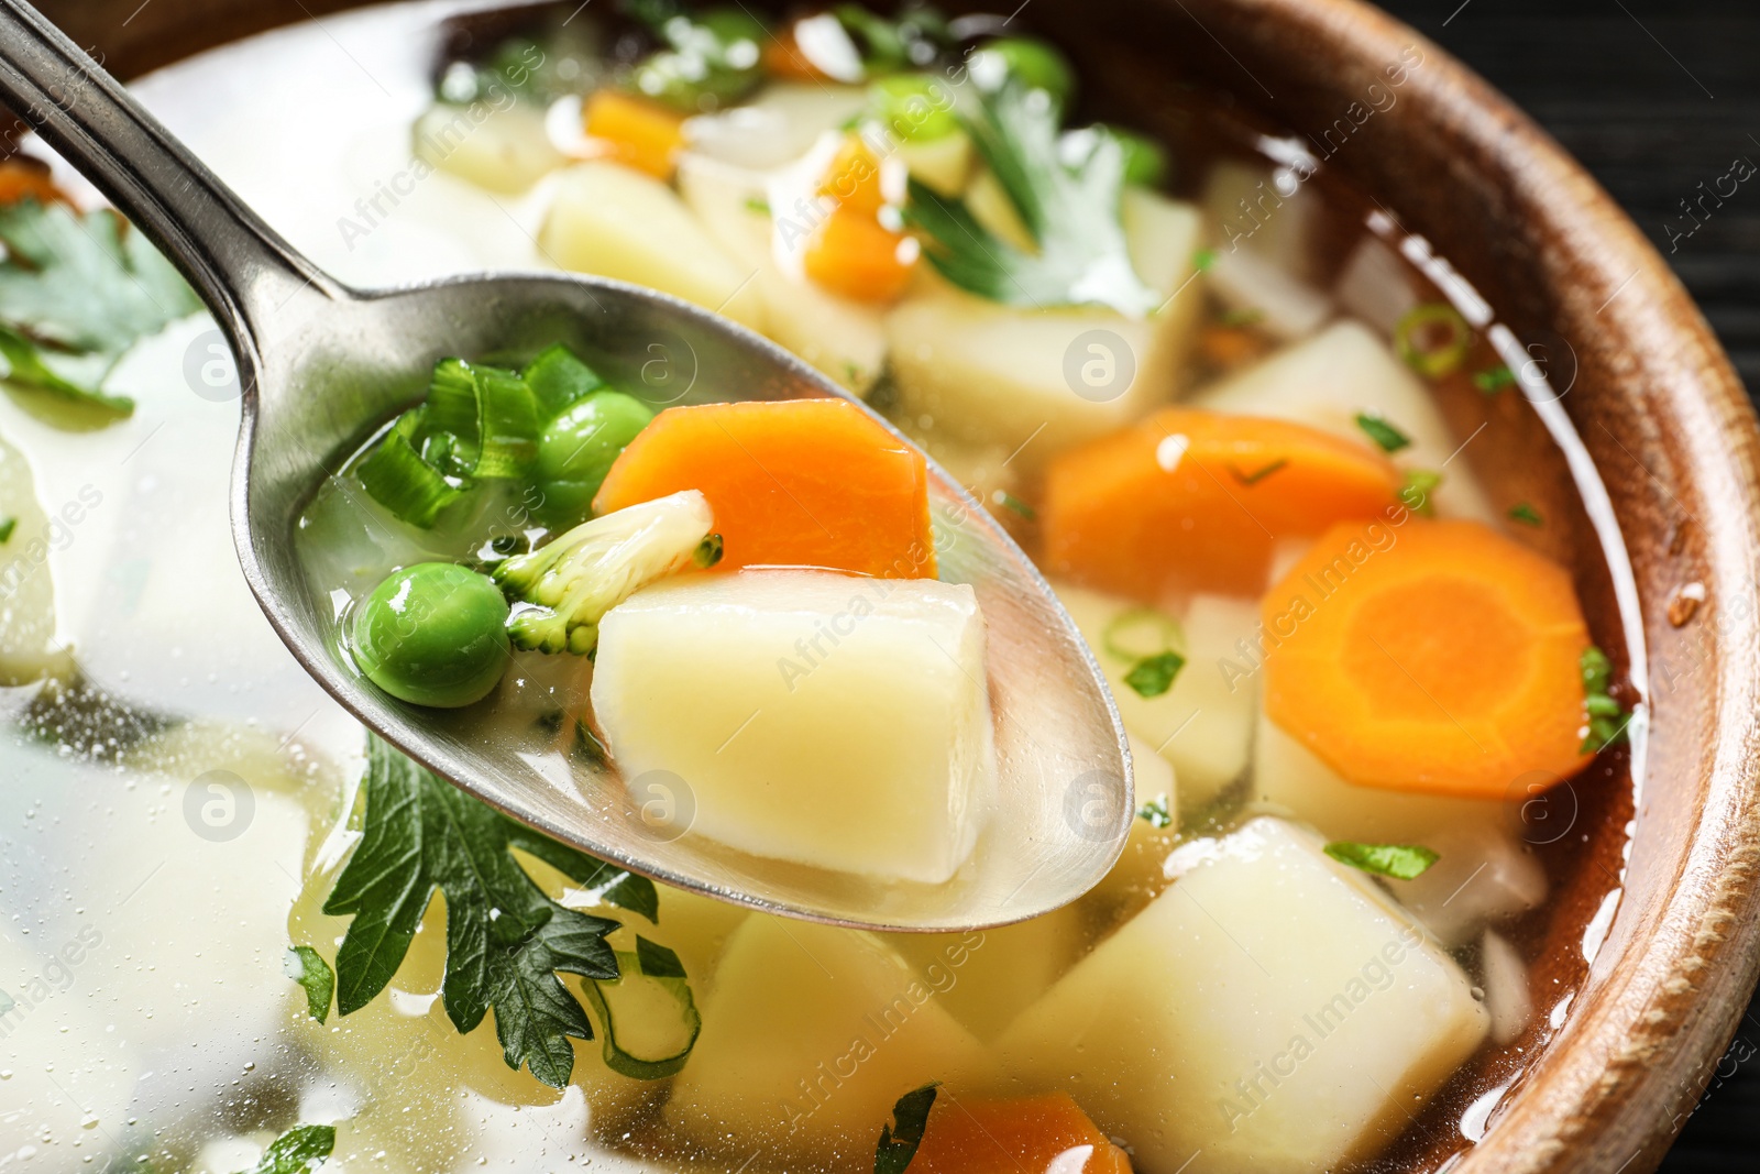
<path id="1" fill-rule="evenodd" d="M 458 709 L 502 679 L 507 600 L 475 570 L 415 563 L 356 605 L 348 646 L 366 679 L 392 697 Z"/>

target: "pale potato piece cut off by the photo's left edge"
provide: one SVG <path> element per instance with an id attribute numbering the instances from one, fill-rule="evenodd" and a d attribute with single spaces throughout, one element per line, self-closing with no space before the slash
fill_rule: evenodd
<path id="1" fill-rule="evenodd" d="M 63 523 L 56 519 L 51 526 L 37 502 L 30 465 L 4 440 L 0 517 L 11 519 L 11 533 L 0 544 L 0 685 L 72 676 L 74 657 L 55 635 L 55 581 L 49 576 L 49 542 Z"/>

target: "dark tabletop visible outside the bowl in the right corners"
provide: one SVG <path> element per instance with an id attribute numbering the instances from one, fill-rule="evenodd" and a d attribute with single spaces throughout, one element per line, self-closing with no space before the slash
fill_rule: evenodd
<path id="1" fill-rule="evenodd" d="M 1760 0 L 1380 0 L 1477 69 L 1582 160 L 1693 292 L 1760 389 Z M 1725 190 L 1728 183 L 1725 181 Z M 1667 1174 L 1760 1170 L 1760 1000 L 1711 1077 Z M 1614 1174 L 1609 1170 L 1607 1174 Z"/>

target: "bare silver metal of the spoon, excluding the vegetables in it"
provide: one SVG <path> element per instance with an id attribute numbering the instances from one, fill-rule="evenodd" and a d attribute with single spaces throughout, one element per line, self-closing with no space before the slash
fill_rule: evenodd
<path id="1" fill-rule="evenodd" d="M 0 97 L 178 264 L 229 334 L 245 387 L 231 503 L 245 577 L 299 664 L 400 750 L 593 855 L 813 921 L 942 931 L 1005 924 L 1068 903 L 1118 859 L 1133 817 L 1130 752 L 1098 667 L 1021 549 L 933 461 L 940 574 L 973 586 L 989 625 L 998 752 L 994 810 L 972 862 L 945 885 L 739 857 L 688 834 L 690 794 L 634 803 L 612 767 L 486 739 L 452 711 L 408 706 L 363 681 L 329 639 L 331 604 L 301 570 L 294 525 L 350 452 L 421 400 L 436 359 L 530 356 L 561 341 L 628 380 L 656 359 L 674 366 L 672 378 L 688 366 L 692 400 L 845 393 L 725 319 L 621 282 L 523 275 L 347 289 L 21 0 L 0 0 Z"/>

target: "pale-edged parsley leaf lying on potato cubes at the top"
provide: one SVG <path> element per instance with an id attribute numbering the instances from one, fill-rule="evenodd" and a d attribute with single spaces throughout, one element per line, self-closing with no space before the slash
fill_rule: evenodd
<path id="1" fill-rule="evenodd" d="M 980 225 L 964 201 L 910 181 L 905 220 L 929 239 L 929 264 L 954 285 L 1010 306 L 1111 306 L 1133 319 L 1162 305 L 1130 266 L 1119 201 L 1125 150 L 1104 128 L 1058 134 L 1044 90 L 1008 79 L 979 95 L 966 134 L 1038 243 L 1023 252 Z"/>

